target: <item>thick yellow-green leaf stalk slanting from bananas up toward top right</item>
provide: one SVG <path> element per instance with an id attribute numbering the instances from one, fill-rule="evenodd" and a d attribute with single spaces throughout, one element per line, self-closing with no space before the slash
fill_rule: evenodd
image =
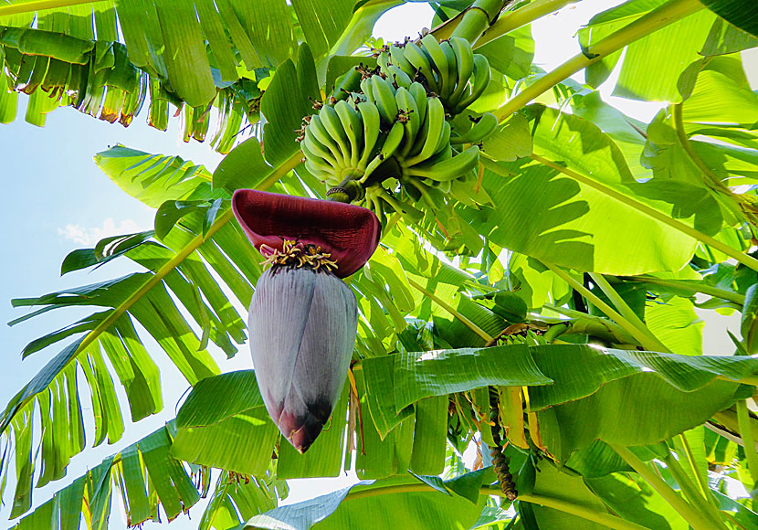
<path id="1" fill-rule="evenodd" d="M 502 122 L 515 111 L 518 111 L 543 92 L 552 89 L 561 81 L 571 77 L 581 69 L 585 69 L 591 64 L 607 57 L 617 50 L 626 47 L 626 45 L 647 37 L 651 33 L 658 31 L 661 27 L 669 26 L 685 16 L 690 16 L 703 9 L 703 5 L 698 0 L 671 0 L 670 2 L 659 6 L 650 11 L 647 15 L 640 16 L 637 20 L 624 26 L 623 28 L 605 37 L 598 43 L 584 50 L 574 58 L 570 58 L 561 66 L 548 72 L 539 80 L 534 81 L 529 87 L 521 91 L 517 96 L 506 101 L 500 109 L 493 112 Z"/>

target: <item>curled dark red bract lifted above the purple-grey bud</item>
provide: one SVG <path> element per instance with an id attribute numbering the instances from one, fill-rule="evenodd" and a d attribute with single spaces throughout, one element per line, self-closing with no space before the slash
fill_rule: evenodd
<path id="1" fill-rule="evenodd" d="M 364 207 L 239 189 L 232 208 L 262 254 L 268 255 L 266 247 L 281 250 L 284 239 L 310 243 L 332 254 L 340 278 L 363 267 L 379 244 L 379 219 Z"/>

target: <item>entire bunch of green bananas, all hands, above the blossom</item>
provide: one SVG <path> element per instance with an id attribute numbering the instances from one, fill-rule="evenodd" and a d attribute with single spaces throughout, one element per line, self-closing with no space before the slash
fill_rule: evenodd
<path id="1" fill-rule="evenodd" d="M 347 72 L 332 98 L 303 119 L 307 169 L 332 186 L 332 199 L 361 204 L 380 220 L 396 212 L 420 222 L 424 213 L 413 206 L 419 200 L 432 212 L 447 196 L 470 201 L 477 143 L 498 121 L 490 113 L 453 118 L 486 89 L 487 59 L 465 39 L 426 35 L 419 45 L 384 48 L 378 64 Z"/>

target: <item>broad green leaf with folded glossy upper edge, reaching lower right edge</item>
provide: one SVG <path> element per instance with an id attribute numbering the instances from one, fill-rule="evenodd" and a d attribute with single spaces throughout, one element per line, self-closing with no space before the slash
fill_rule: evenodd
<path id="1" fill-rule="evenodd" d="M 559 461 L 594 440 L 645 445 L 700 425 L 750 392 L 750 387 L 732 381 L 755 368 L 753 359 L 744 357 L 598 350 L 587 345 L 531 350 L 537 366 L 555 380 L 553 386 L 530 387 L 529 395 L 530 408 L 538 411 L 542 440 Z M 617 421 L 619 414 L 626 421 Z M 577 422 L 578 418 L 595 420 Z"/>

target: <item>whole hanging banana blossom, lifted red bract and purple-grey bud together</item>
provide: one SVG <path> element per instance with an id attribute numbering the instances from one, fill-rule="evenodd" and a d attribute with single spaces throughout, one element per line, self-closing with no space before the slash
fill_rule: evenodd
<path id="1" fill-rule="evenodd" d="M 248 317 L 258 387 L 281 433 L 305 452 L 332 415 L 353 355 L 358 310 L 340 278 L 374 253 L 379 220 L 363 207 L 254 190 L 237 190 L 232 207 L 273 265 Z"/>

